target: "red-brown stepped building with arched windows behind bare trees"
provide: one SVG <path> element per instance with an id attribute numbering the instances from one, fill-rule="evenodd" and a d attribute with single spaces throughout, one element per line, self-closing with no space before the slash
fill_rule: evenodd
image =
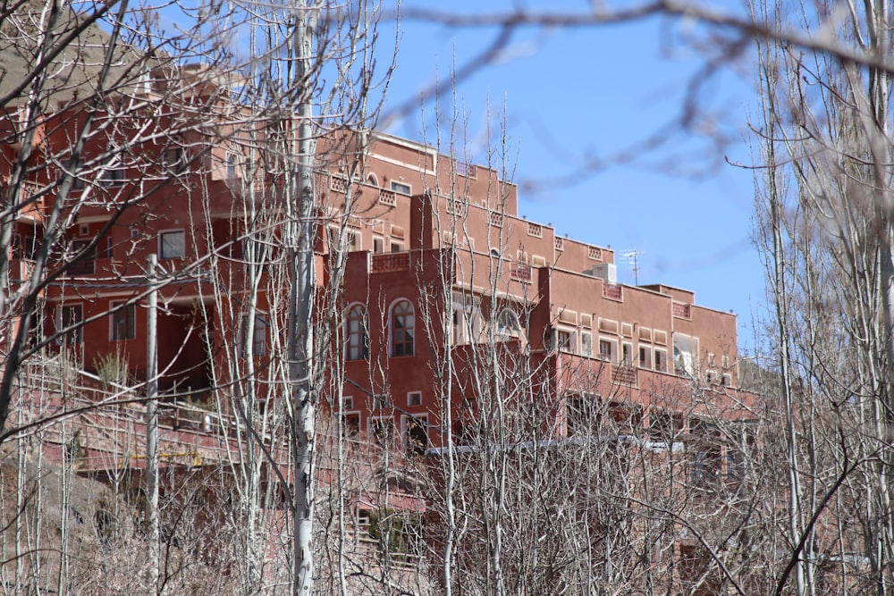
<path id="1" fill-rule="evenodd" d="M 244 361 L 267 387 L 283 346 L 282 191 L 244 130 L 222 127 L 215 142 L 197 131 L 197 114 L 222 105 L 214 90 L 199 89 L 190 109 L 151 122 L 139 114 L 90 138 L 88 167 L 75 173 L 57 211 L 70 225 L 69 249 L 56 263 L 72 262 L 48 280 L 41 327 L 46 337 L 64 332 L 58 343 L 87 370 L 114 358 L 145 378 L 141 313 L 157 286 L 161 388 L 195 399 L 241 382 Z M 83 116 L 48 117 L 33 161 L 65 155 Z M 148 122 L 150 140 L 129 144 L 128 131 Z M 355 159 L 347 149 L 355 141 L 320 139 L 316 174 L 321 291 L 333 268 L 344 272 L 333 342 L 343 342 L 346 381 L 333 408 L 350 427 L 387 432 L 414 449 L 441 447 L 448 431 L 461 437 L 475 424 L 485 385 L 512 399 L 542 399 L 539 424 L 556 437 L 574 432 L 591 400 L 637 421 L 735 402 L 733 315 L 696 305 L 691 291 L 618 283 L 610 248 L 519 217 L 517 188 L 493 168 L 382 133 Z M 14 149 L 4 147 L 7 177 Z M 38 168 L 28 182 L 43 190 L 18 214 L 13 272 L 21 279 L 59 206 L 58 172 Z M 342 239 L 349 252 L 340 264 L 331 248 Z M 157 283 L 147 276 L 150 254 L 164 274 Z M 497 389 L 481 382 L 483 369 Z M 674 388 L 691 396 L 695 387 L 708 396 L 703 404 L 668 397 Z"/>

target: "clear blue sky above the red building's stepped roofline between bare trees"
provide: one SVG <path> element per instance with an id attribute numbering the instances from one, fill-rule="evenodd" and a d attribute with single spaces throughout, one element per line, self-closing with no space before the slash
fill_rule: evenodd
<path id="1" fill-rule="evenodd" d="M 498 10 L 503 4 L 450 4 L 456 12 Z M 558 4 L 530 2 L 528 9 Z M 484 8 L 477 8 L 484 6 Z M 433 8 L 410 0 L 402 10 Z M 584 3 L 565 7 L 586 10 Z M 748 163 L 749 113 L 757 107 L 748 56 L 724 67 L 695 96 L 688 85 L 704 65 L 687 36 L 697 27 L 649 19 L 603 28 L 522 29 L 498 63 L 477 71 L 456 91 L 466 114 L 470 161 L 483 162 L 490 124 L 497 139 L 505 113 L 519 212 L 550 222 L 560 234 L 636 249 L 639 282 L 662 282 L 696 291 L 696 302 L 738 315 L 740 345 L 750 340 L 754 315 L 764 304 L 763 267 L 753 246 L 754 183 Z M 493 29 L 450 29 L 418 21 L 401 23 L 397 71 L 388 105 L 414 101 L 440 72 L 463 64 L 488 46 Z M 385 37 L 385 36 L 382 36 Z M 700 119 L 679 126 L 687 98 L 696 97 Z M 451 97 L 442 106 L 451 109 Z M 424 124 L 425 123 L 425 124 Z M 434 105 L 389 123 L 411 139 L 434 138 Z M 426 130 L 423 133 L 423 130 Z M 710 130 L 727 140 L 718 145 Z M 662 139 L 642 149 L 646 139 Z M 628 159 L 603 164 L 611 155 Z M 591 164 L 599 163 L 597 167 Z M 620 259 L 619 259 L 620 260 Z M 634 281 L 619 263 L 621 281 Z"/>

